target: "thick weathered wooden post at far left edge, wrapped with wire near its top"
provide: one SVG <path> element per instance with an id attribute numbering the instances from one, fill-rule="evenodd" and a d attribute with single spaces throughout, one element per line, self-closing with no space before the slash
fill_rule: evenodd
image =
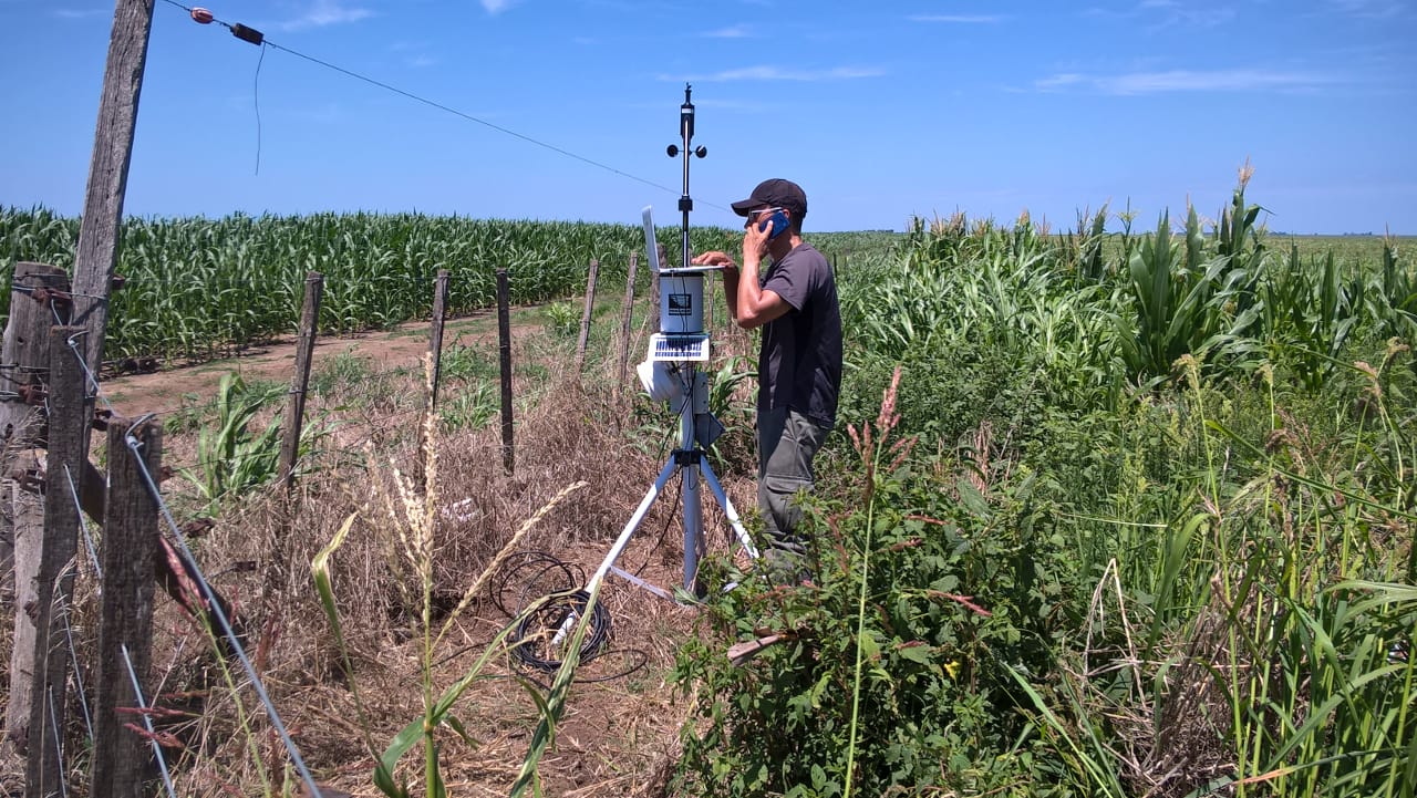
<path id="1" fill-rule="evenodd" d="M 38 602 L 40 557 L 44 541 L 44 505 L 34 476 L 40 462 L 34 449 L 43 446 L 44 418 L 40 408 L 45 398 L 50 371 L 50 327 L 55 315 L 68 319 L 68 308 L 47 292 L 68 291 L 64 269 L 45 264 L 20 262 L 14 266 L 10 292 L 10 323 L 0 346 L 0 437 L 3 463 L 0 500 L 11 507 L 7 546 L 13 546 L 4 574 L 14 573 L 14 648 L 10 652 L 10 703 L 6 707 L 6 738 L 24 751 L 30 729 L 37 629 L 34 617 L 23 608 Z"/>

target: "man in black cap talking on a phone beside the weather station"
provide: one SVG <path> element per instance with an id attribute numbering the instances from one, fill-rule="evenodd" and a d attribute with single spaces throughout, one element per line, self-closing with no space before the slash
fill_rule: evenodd
<path id="1" fill-rule="evenodd" d="M 836 422 L 842 386 L 842 315 L 832 265 L 802 241 L 806 194 L 796 183 L 764 180 L 734 213 L 745 217 L 743 265 L 726 252 L 694 264 L 723 266 L 728 313 L 762 327 L 758 353 L 758 507 L 769 567 L 802 578 L 806 547 L 795 527 L 798 490 L 812 489 L 812 458 Z M 769 259 L 769 264 L 764 264 Z"/>

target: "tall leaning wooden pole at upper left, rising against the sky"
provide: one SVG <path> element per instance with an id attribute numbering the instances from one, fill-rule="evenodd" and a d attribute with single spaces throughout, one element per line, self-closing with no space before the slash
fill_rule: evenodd
<path id="1" fill-rule="evenodd" d="M 113 31 L 103 67 L 103 91 L 94 132 L 84 220 L 79 223 L 78 252 L 74 257 L 74 323 L 88 330 L 84 360 L 98 374 L 108 329 L 108 295 L 118 266 L 119 227 L 123 194 L 133 154 L 137 125 L 137 95 L 143 88 L 147 37 L 153 26 L 154 0 L 118 0 Z"/>

